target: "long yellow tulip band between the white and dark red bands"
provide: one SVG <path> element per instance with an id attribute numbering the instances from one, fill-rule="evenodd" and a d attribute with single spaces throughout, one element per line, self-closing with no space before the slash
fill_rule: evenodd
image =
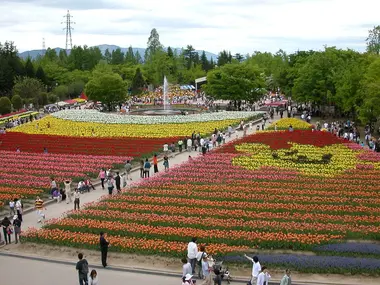
<path id="1" fill-rule="evenodd" d="M 222 120 L 210 122 L 191 122 L 186 124 L 102 124 L 93 122 L 74 122 L 45 117 L 36 123 L 28 123 L 9 130 L 10 132 L 23 132 L 26 134 L 60 135 L 70 137 L 141 137 L 165 138 L 186 137 L 193 132 L 202 135 L 210 134 L 215 129 L 225 129 L 229 125 L 236 125 L 238 120 Z M 50 125 L 50 127 L 48 127 Z M 93 134 L 94 131 L 94 134 Z"/>

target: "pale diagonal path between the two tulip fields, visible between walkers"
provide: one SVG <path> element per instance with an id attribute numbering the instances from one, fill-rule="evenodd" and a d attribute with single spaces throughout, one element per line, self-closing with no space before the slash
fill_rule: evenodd
<path id="1" fill-rule="evenodd" d="M 278 118 L 275 117 L 275 121 L 277 119 Z M 267 126 L 268 125 L 269 125 L 269 123 L 267 122 Z M 254 132 L 256 132 L 256 125 L 254 125 L 252 127 L 252 129 L 249 129 L 247 131 L 247 134 L 252 134 Z M 235 140 L 237 138 L 241 138 L 242 136 L 243 136 L 243 132 L 237 131 L 236 133 L 234 133 L 231 136 L 231 138 L 227 138 L 226 142 L 229 142 L 231 140 Z M 180 154 L 177 154 L 175 157 L 169 158 L 170 167 L 173 167 L 175 165 L 178 165 L 178 164 L 181 164 L 183 162 L 188 161 L 189 155 L 191 155 L 193 158 L 195 158 L 196 156 L 200 155 L 200 153 L 196 152 L 196 151 L 191 151 L 191 152 L 184 151 Z M 163 171 L 162 162 L 158 163 L 158 168 L 159 168 L 159 171 Z M 152 167 L 151 173 L 152 173 L 152 171 L 153 171 L 153 167 Z M 133 179 L 133 182 L 139 181 L 141 179 L 139 170 L 132 172 L 132 179 Z M 84 193 L 81 195 L 81 198 L 80 198 L 80 204 L 81 205 L 96 201 L 96 200 L 100 199 L 102 196 L 108 195 L 107 187 L 105 190 L 102 190 L 101 186 L 97 186 L 97 187 L 95 187 L 95 189 L 96 190 L 91 190 L 90 193 Z M 66 204 L 66 202 L 63 201 L 61 203 L 49 204 L 46 206 L 46 208 L 47 208 L 47 210 L 45 210 L 46 219 L 53 219 L 53 218 L 60 218 L 60 217 L 64 216 L 66 212 L 68 212 L 74 208 L 74 204 L 73 203 Z M 38 220 L 37 218 L 38 217 L 34 211 L 30 212 L 30 213 L 26 213 L 23 216 L 22 229 L 26 230 L 29 227 L 41 228 L 42 224 L 37 222 L 37 220 Z"/>

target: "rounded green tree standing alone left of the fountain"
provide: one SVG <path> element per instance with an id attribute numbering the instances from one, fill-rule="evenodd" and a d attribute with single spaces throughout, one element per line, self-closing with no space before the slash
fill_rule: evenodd
<path id="1" fill-rule="evenodd" d="M 91 100 L 107 104 L 111 110 L 113 104 L 124 102 L 127 88 L 120 75 L 116 73 L 95 73 L 86 84 L 85 93 Z"/>

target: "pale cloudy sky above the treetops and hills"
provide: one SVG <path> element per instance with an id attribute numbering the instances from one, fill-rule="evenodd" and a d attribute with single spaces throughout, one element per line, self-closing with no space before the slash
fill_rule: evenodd
<path id="1" fill-rule="evenodd" d="M 0 42 L 20 52 L 65 47 L 64 16 L 73 16 L 73 45 L 145 48 L 156 28 L 164 46 L 217 54 L 365 50 L 380 25 L 379 0 L 0 0 Z"/>

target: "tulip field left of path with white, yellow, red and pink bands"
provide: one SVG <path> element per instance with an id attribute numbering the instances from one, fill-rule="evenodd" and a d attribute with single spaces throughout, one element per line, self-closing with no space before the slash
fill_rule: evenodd
<path id="1" fill-rule="evenodd" d="M 225 129 L 259 115 L 219 112 L 152 117 L 64 110 L 21 124 L 0 135 L 0 185 L 8 189 L 0 191 L 0 207 L 11 197 L 28 198 L 49 189 L 50 177 L 58 183 L 94 177 L 101 168 L 120 167 L 126 160 L 160 153 L 165 143 L 177 143 L 193 132 L 210 134 L 215 128 Z M 24 188 L 33 194 L 27 196 Z"/>

